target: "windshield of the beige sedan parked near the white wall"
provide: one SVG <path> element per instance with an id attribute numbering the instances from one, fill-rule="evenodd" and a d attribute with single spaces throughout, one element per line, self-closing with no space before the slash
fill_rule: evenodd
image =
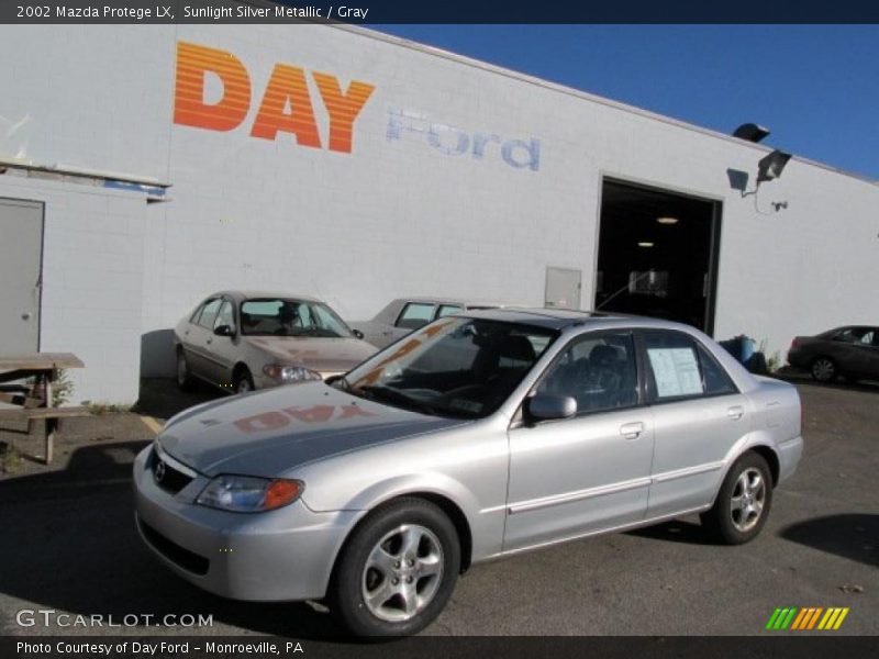
<path id="1" fill-rule="evenodd" d="M 282 298 L 242 302 L 241 333 L 246 336 L 352 336 L 348 326 L 325 304 Z"/>

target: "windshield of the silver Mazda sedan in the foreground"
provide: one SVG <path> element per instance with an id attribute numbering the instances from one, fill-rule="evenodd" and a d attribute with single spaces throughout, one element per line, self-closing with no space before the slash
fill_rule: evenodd
<path id="1" fill-rule="evenodd" d="M 510 396 L 556 336 L 539 327 L 449 316 L 379 353 L 335 386 L 425 414 L 479 418 Z"/>

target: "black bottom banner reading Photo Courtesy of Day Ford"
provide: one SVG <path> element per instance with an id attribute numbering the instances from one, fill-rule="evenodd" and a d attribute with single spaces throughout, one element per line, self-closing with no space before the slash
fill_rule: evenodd
<path id="1" fill-rule="evenodd" d="M 846 659 L 874 657 L 875 637 L 836 634 L 750 637 L 416 637 L 358 643 L 270 636 L 0 637 L 4 659 Z"/>

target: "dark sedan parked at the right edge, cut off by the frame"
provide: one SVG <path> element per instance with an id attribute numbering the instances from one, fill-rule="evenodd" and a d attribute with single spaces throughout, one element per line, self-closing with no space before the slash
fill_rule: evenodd
<path id="1" fill-rule="evenodd" d="M 879 380 L 879 326 L 848 325 L 815 336 L 798 336 L 788 364 L 812 373 L 819 382 L 837 377 L 849 381 Z"/>

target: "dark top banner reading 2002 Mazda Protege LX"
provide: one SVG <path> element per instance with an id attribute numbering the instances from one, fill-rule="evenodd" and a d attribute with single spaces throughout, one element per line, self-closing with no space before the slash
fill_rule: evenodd
<path id="1" fill-rule="evenodd" d="M 343 2 L 345 0 L 342 0 Z M 879 23 L 863 0 L 4 0 L 0 23 Z"/>

